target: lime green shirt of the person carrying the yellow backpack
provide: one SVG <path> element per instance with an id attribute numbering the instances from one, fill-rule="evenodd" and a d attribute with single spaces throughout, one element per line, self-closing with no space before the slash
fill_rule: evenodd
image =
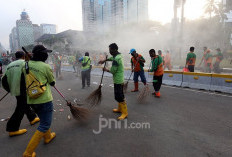
<path id="1" fill-rule="evenodd" d="M 32 99 L 27 96 L 28 104 L 43 104 L 53 100 L 50 83 L 54 82 L 54 76 L 50 65 L 41 61 L 29 61 L 29 71 L 34 74 L 42 84 L 46 85 L 46 91 L 37 99 Z M 26 74 L 25 68 L 23 69 L 24 75 Z"/>

